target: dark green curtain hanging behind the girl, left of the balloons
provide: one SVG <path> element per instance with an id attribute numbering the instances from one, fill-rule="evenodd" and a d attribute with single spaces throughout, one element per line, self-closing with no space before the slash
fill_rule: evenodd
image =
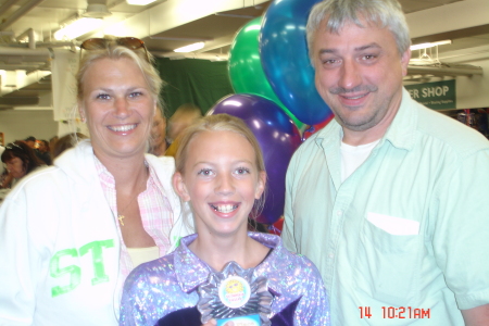
<path id="1" fill-rule="evenodd" d="M 196 104 L 205 114 L 220 99 L 234 93 L 227 61 L 156 58 L 155 66 L 168 84 L 161 92 L 166 117 L 185 103 Z"/>

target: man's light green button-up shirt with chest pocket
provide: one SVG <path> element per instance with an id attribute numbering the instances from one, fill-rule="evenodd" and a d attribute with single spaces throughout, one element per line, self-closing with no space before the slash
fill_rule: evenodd
<path id="1" fill-rule="evenodd" d="M 488 140 L 405 90 L 343 183 L 341 139 L 333 121 L 293 155 L 283 233 L 319 268 L 333 325 L 464 325 L 489 303 Z"/>

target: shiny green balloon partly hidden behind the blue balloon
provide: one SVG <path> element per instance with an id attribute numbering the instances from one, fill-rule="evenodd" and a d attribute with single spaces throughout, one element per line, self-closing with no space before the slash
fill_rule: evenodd
<path id="1" fill-rule="evenodd" d="M 236 93 L 258 95 L 275 102 L 301 129 L 303 123 L 280 102 L 263 71 L 259 41 L 262 17 L 248 22 L 233 40 L 228 60 L 229 79 L 233 89 Z"/>

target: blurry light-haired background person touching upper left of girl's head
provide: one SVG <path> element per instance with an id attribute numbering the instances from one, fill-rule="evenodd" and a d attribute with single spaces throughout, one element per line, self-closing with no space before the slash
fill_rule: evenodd
<path id="1" fill-rule="evenodd" d="M 171 145 L 165 155 L 175 156 L 178 150 L 178 136 L 199 117 L 202 117 L 199 106 L 190 103 L 178 106 L 168 122 L 167 139 Z"/>

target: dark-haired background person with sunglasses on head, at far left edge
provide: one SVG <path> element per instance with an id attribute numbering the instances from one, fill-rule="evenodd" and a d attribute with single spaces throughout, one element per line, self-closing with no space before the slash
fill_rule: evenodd
<path id="1" fill-rule="evenodd" d="M 7 145 L 1 160 L 9 174 L 0 188 L 13 188 L 27 174 L 45 165 L 29 146 L 18 140 Z"/>

